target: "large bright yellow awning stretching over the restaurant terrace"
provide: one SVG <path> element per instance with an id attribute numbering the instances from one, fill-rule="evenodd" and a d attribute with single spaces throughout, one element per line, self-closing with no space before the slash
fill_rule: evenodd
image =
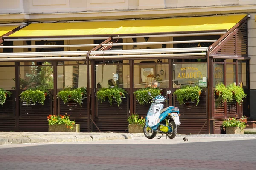
<path id="1" fill-rule="evenodd" d="M 154 34 L 229 30 L 246 15 L 186 17 L 154 20 L 32 23 L 9 37 Z"/>

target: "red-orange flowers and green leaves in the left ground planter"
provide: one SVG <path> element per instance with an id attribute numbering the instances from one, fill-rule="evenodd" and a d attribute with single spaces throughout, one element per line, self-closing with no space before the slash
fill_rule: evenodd
<path id="1" fill-rule="evenodd" d="M 67 128 L 73 129 L 73 125 L 75 124 L 75 121 L 70 121 L 69 119 L 69 115 L 67 116 L 67 113 L 63 116 L 63 115 L 49 115 L 47 117 L 47 121 L 49 125 L 61 125 L 61 124 L 65 124 Z"/>

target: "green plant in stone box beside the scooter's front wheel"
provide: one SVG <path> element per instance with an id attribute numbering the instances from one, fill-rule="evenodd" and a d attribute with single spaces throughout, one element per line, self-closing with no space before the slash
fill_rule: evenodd
<path id="1" fill-rule="evenodd" d="M 127 119 L 129 126 L 129 133 L 143 133 L 143 127 L 146 123 L 146 119 L 143 118 L 143 116 L 140 116 L 137 114 L 132 114 Z"/>

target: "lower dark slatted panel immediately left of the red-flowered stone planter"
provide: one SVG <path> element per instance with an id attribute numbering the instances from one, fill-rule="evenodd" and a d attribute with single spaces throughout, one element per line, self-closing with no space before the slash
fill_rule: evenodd
<path id="1" fill-rule="evenodd" d="M 20 119 L 19 131 L 48 132 L 47 118 L 44 117 L 44 119 Z"/>

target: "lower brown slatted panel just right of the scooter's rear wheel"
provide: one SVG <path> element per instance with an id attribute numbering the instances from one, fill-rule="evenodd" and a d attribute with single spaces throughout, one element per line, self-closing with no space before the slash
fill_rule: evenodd
<path id="1" fill-rule="evenodd" d="M 180 122 L 177 132 L 179 134 L 198 134 L 203 126 L 200 134 L 208 134 L 207 123 L 205 124 L 207 119 L 180 119 Z"/>

